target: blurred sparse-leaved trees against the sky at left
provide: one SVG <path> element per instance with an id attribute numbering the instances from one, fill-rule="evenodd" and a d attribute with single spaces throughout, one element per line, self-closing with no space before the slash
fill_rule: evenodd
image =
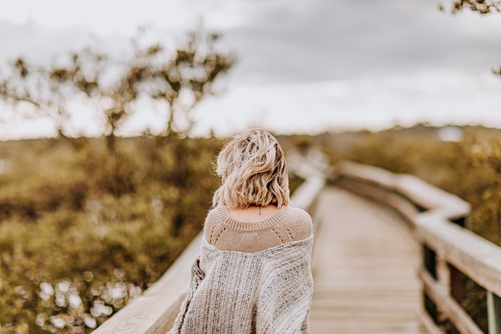
<path id="1" fill-rule="evenodd" d="M 140 97 L 166 103 L 166 135 L 188 135 L 192 108 L 213 93 L 213 82 L 235 63 L 233 55 L 214 49 L 219 37 L 199 27 L 184 45 L 169 52 L 161 43 L 143 44 L 139 35 L 130 55 L 119 60 L 90 47 L 50 66 L 19 58 L 0 78 L 0 99 L 23 117 L 50 117 L 60 137 L 67 136 L 69 102 L 92 104 L 104 116 L 109 152 L 116 150 L 116 130 L 139 112 L 135 102 Z"/>

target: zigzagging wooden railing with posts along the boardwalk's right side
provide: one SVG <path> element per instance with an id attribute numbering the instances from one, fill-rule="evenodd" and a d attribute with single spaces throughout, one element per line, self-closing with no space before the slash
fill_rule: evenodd
<path id="1" fill-rule="evenodd" d="M 347 161 L 329 181 L 389 205 L 409 223 L 423 249 L 419 315 L 429 333 L 483 333 L 461 304 L 466 279 L 485 289 L 488 333 L 501 333 L 501 247 L 464 228 L 468 203 L 417 177 Z"/>

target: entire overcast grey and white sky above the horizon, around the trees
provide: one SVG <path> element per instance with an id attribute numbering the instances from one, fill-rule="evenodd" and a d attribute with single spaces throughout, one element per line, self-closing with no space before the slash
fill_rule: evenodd
<path id="1" fill-rule="evenodd" d="M 17 0 L 0 11 L 0 65 L 90 44 L 119 52 L 140 26 L 168 45 L 203 17 L 239 61 L 220 94 L 197 106 L 197 134 L 249 125 L 278 133 L 417 122 L 501 127 L 501 79 L 491 74 L 501 66 L 501 14 L 452 15 L 440 3 L 447 10 L 452 0 Z M 122 132 L 154 129 L 161 117 L 143 111 Z M 83 118 L 74 128 L 100 131 Z M 0 139 L 53 131 L 0 125 Z"/>

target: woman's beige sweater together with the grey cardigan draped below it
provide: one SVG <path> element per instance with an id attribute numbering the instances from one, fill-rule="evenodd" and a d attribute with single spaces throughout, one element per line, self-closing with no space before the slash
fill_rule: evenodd
<path id="1" fill-rule="evenodd" d="M 288 206 L 257 222 L 238 221 L 225 207 L 211 210 L 190 290 L 168 334 L 309 333 L 311 225 L 308 213 Z"/>

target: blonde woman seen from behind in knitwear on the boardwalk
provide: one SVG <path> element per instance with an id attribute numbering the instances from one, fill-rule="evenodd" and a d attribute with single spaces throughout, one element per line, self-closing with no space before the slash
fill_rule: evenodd
<path id="1" fill-rule="evenodd" d="M 312 220 L 289 206 L 280 144 L 262 129 L 238 134 L 219 153 L 216 173 L 222 185 L 169 333 L 308 333 Z"/>

